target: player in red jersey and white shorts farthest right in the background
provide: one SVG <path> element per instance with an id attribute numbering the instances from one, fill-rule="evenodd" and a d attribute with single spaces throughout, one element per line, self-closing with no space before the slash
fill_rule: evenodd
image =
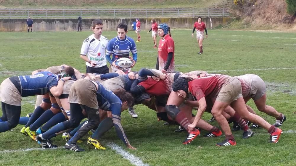
<path id="1" fill-rule="evenodd" d="M 193 37 L 193 33 L 194 33 L 195 29 L 196 29 L 196 39 L 197 39 L 197 42 L 200 45 L 200 52 L 198 52 L 197 54 L 202 54 L 203 53 L 202 41 L 203 41 L 204 38 L 207 38 L 207 28 L 205 27 L 205 23 L 202 22 L 201 17 L 197 17 L 197 22 L 194 23 L 194 28 L 193 28 L 192 34 L 191 34 L 192 37 Z M 206 36 L 204 34 L 204 30 L 205 30 Z"/>

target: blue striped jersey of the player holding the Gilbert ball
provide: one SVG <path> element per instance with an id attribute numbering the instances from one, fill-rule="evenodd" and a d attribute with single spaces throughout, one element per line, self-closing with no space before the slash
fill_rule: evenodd
<path id="1" fill-rule="evenodd" d="M 112 64 L 112 62 L 116 59 L 121 57 L 129 57 L 129 53 L 132 53 L 133 60 L 137 61 L 137 47 L 135 41 L 133 41 L 130 37 L 125 37 L 125 39 L 120 40 L 117 37 L 114 37 L 108 42 L 107 49 L 106 49 L 106 60 Z M 112 55 L 112 60 L 110 55 Z"/>

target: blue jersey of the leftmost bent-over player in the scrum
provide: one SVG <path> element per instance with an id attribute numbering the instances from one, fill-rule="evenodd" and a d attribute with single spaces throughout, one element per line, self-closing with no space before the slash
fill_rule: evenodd
<path id="1" fill-rule="evenodd" d="M 18 76 L 21 84 L 21 96 L 44 95 L 50 88 L 57 86 L 58 75 L 50 72 L 38 72 L 35 75 Z"/>

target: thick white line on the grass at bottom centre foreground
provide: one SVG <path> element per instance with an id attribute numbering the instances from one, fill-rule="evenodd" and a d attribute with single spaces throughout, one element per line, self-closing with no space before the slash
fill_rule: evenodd
<path id="1" fill-rule="evenodd" d="M 149 166 L 148 164 L 144 164 L 139 157 L 136 157 L 128 153 L 127 151 L 119 147 L 117 144 L 114 144 L 113 142 L 107 144 L 107 146 L 110 147 L 112 150 L 115 150 L 116 153 L 118 153 L 119 155 L 123 156 L 123 158 L 129 160 L 132 165 Z"/>

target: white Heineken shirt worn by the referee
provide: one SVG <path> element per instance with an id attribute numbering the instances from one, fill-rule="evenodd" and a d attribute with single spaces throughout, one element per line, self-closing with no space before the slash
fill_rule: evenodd
<path id="1" fill-rule="evenodd" d="M 90 35 L 83 41 L 80 55 L 87 55 L 89 60 L 96 63 L 96 66 L 91 66 L 88 62 L 85 64 L 92 68 L 100 68 L 107 65 L 105 50 L 108 44 L 108 39 L 101 35 L 100 40 L 94 37 L 94 34 Z"/>

